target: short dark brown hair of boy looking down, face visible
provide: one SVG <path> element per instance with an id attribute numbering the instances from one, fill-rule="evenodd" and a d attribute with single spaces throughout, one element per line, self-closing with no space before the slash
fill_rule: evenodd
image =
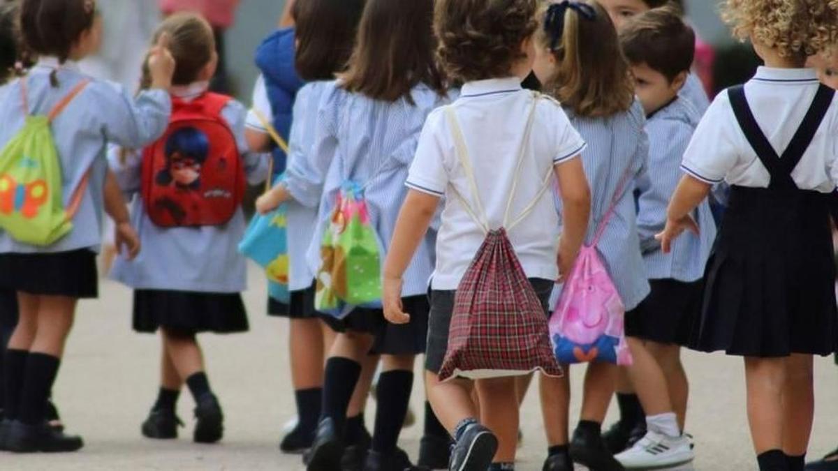
<path id="1" fill-rule="evenodd" d="M 672 83 L 696 58 L 696 33 L 675 8 L 654 8 L 631 18 L 620 32 L 623 53 L 632 64 L 649 65 Z"/>

